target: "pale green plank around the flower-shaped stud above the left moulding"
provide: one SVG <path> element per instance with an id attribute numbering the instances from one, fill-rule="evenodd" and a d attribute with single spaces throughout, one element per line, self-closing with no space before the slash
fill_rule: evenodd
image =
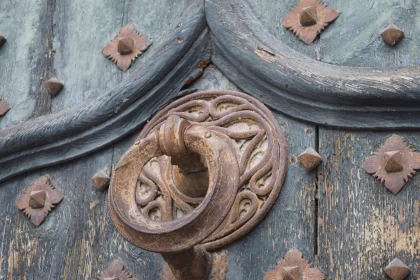
<path id="1" fill-rule="evenodd" d="M 54 69 L 65 88 L 52 102 L 52 111 L 82 104 L 114 88 L 133 73 L 153 49 L 166 41 L 188 1 L 60 1 L 54 12 Z M 153 41 L 153 45 L 122 72 L 102 49 L 126 24 Z"/>

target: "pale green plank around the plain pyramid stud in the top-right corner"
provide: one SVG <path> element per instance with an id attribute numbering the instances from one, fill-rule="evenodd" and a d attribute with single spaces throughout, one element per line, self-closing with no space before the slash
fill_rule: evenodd
<path id="1" fill-rule="evenodd" d="M 420 64 L 417 1 L 328 2 L 340 16 L 321 34 L 321 61 L 369 67 Z M 380 36 L 391 23 L 403 29 L 406 36 L 395 47 L 388 46 Z"/>

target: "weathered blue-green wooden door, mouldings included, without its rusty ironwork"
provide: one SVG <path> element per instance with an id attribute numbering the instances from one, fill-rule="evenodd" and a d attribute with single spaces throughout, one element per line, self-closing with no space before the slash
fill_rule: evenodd
<path id="1" fill-rule="evenodd" d="M 288 149 L 270 212 L 217 252 L 226 279 L 264 279 L 291 248 L 327 279 L 389 279 L 396 257 L 419 278 L 419 177 L 393 194 L 363 169 L 394 134 L 420 151 L 418 5 L 325 2 L 340 15 L 307 45 L 282 26 L 298 1 L 2 0 L 0 279 L 94 279 L 116 259 L 160 279 L 162 257 L 119 234 L 91 178 L 180 92 L 204 90 L 263 102 Z M 127 24 L 153 44 L 122 72 L 102 50 Z M 389 24 L 405 32 L 394 47 L 380 36 Z M 313 171 L 298 160 L 309 147 L 323 160 Z M 16 201 L 41 176 L 64 199 L 35 226 Z"/>

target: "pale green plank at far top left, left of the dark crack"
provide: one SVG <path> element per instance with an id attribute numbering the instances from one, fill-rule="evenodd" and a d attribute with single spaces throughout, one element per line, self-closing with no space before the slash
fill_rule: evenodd
<path id="1" fill-rule="evenodd" d="M 0 118 L 0 130 L 29 119 L 43 101 L 41 110 L 49 110 L 39 81 L 48 60 L 48 9 L 41 0 L 0 2 L 0 32 L 7 38 L 0 48 L 0 99 L 12 108 Z"/>

